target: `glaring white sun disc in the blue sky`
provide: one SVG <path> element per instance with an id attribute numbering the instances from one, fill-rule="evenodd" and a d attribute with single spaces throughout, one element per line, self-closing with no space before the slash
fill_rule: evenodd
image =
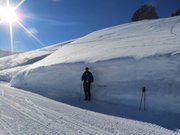
<path id="1" fill-rule="evenodd" d="M 0 20 L 7 23 L 17 22 L 19 19 L 16 10 L 11 6 L 0 7 Z"/>

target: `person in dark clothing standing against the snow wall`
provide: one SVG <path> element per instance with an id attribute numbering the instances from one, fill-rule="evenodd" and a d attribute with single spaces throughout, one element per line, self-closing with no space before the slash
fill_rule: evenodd
<path id="1" fill-rule="evenodd" d="M 89 68 L 85 68 L 85 72 L 83 73 L 81 77 L 81 81 L 84 81 L 84 94 L 85 99 L 84 100 L 91 100 L 91 83 L 94 81 L 94 77 L 92 73 L 89 71 Z"/>

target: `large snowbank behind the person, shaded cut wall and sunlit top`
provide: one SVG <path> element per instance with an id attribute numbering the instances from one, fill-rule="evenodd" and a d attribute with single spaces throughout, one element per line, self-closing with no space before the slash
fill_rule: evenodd
<path id="1" fill-rule="evenodd" d="M 84 67 L 95 76 L 93 99 L 180 113 L 180 17 L 93 32 L 13 76 L 11 85 L 52 99 L 78 99 Z"/>

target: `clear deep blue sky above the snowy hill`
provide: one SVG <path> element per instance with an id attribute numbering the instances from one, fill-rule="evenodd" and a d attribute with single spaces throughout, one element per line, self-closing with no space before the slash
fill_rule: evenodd
<path id="1" fill-rule="evenodd" d="M 180 0 L 25 0 L 18 12 L 24 16 L 22 24 L 48 46 L 127 23 L 145 3 L 153 4 L 161 18 L 180 8 Z M 43 47 L 17 24 L 13 25 L 13 33 L 15 51 Z M 0 24 L 0 49 L 10 50 L 7 24 Z"/>

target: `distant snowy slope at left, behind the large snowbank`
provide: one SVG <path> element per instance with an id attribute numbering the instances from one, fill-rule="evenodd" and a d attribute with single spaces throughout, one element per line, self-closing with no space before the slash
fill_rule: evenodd
<path id="1" fill-rule="evenodd" d="M 12 77 L 29 65 L 36 63 L 72 41 L 45 47 L 35 51 L 0 58 L 0 80 L 10 82 Z"/>

